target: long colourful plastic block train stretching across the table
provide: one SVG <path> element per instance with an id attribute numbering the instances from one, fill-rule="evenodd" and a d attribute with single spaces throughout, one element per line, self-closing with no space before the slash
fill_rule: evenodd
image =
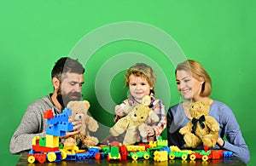
<path id="1" fill-rule="evenodd" d="M 132 160 L 142 158 L 144 160 L 153 159 L 161 162 L 168 159 L 174 160 L 181 158 L 182 160 L 195 160 L 197 158 L 202 161 L 208 159 L 218 159 L 221 157 L 232 157 L 233 152 L 224 150 L 209 150 L 205 147 L 203 150 L 189 151 L 180 150 L 177 146 L 167 146 L 167 140 L 161 137 L 159 140 L 150 141 L 149 144 L 139 144 L 137 146 L 125 146 L 119 142 L 112 142 L 109 145 L 90 147 L 86 152 L 79 150 L 78 146 L 63 147 L 60 146 L 60 136 L 65 136 L 67 131 L 73 130 L 72 123 L 68 123 L 68 117 L 71 116 L 71 110 L 66 108 L 61 114 L 53 115 L 51 110 L 44 112 L 44 118 L 47 119 L 49 127 L 46 129 L 46 136 L 40 138 L 34 137 L 32 140 L 32 149 L 28 154 L 28 163 L 60 162 L 61 160 L 77 161 L 84 158 L 95 158 L 100 160 L 103 157 L 111 160 L 126 160 L 130 157 Z"/>

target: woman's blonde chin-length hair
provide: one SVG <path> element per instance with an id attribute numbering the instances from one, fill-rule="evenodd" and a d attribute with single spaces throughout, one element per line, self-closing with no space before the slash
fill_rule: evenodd
<path id="1" fill-rule="evenodd" d="M 198 81 L 204 81 L 201 86 L 201 97 L 207 97 L 212 92 L 212 79 L 208 75 L 207 71 L 201 64 L 196 60 L 185 60 L 178 64 L 176 67 L 175 75 L 177 71 L 190 72 L 192 77 L 195 77 Z"/>

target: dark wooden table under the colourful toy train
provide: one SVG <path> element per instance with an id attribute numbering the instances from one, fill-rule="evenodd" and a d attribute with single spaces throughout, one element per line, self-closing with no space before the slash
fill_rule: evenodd
<path id="1" fill-rule="evenodd" d="M 242 163 L 240 160 L 238 160 L 236 157 L 231 157 L 231 158 L 223 158 L 219 160 L 211 160 L 209 159 L 207 162 L 202 162 L 200 159 L 195 160 L 195 161 L 190 161 L 185 160 L 182 161 L 181 159 L 176 159 L 176 160 L 168 160 L 164 162 L 155 162 L 153 159 L 149 160 L 144 160 L 144 159 L 138 159 L 137 161 L 133 161 L 132 159 L 128 159 L 125 161 L 110 161 L 108 162 L 107 158 L 103 158 L 102 160 L 96 160 L 96 159 L 82 159 L 79 161 L 61 161 L 59 163 L 28 163 L 27 160 L 27 153 L 23 153 L 20 156 L 20 160 L 16 164 L 16 166 L 43 166 L 43 165 L 50 165 L 50 166 L 55 166 L 55 165 L 60 165 L 60 166 L 75 166 L 75 165 L 109 165 L 109 166 L 131 166 L 131 165 L 183 165 L 183 166 L 198 166 L 198 165 L 204 165 L 204 166 L 209 166 L 209 165 L 228 165 L 228 166 L 235 166 L 235 165 L 246 165 L 245 163 Z"/>

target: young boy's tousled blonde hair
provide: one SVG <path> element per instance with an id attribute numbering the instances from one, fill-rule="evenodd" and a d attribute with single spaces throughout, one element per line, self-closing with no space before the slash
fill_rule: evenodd
<path id="1" fill-rule="evenodd" d="M 144 63 L 136 63 L 134 66 L 131 66 L 128 71 L 125 73 L 125 85 L 129 87 L 130 79 L 129 77 L 133 74 L 137 77 L 144 77 L 148 81 L 150 87 L 154 88 L 156 82 L 156 74 L 152 67 Z"/>

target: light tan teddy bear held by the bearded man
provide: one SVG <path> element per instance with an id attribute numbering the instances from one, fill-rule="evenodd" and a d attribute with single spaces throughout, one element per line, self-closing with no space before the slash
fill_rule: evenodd
<path id="1" fill-rule="evenodd" d="M 90 103 L 87 100 L 73 100 L 67 103 L 67 107 L 72 111 L 70 118 L 79 120 L 82 123 L 79 134 L 73 135 L 72 137 L 76 140 L 81 140 L 86 147 L 96 146 L 99 140 L 94 136 L 90 136 L 89 130 L 96 132 L 99 125 L 93 117 L 87 114 Z"/>

